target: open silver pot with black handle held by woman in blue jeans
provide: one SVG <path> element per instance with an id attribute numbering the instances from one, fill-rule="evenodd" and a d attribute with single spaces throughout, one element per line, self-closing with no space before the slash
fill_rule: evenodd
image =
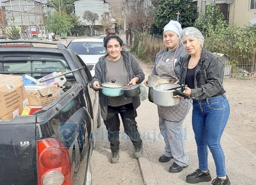
<path id="1" fill-rule="evenodd" d="M 174 83 L 161 83 L 153 87 L 153 100 L 156 105 L 161 106 L 175 106 L 181 102 L 181 99 L 174 98 L 173 96 L 179 95 L 185 99 L 190 97 L 181 92 L 180 90 L 168 90 L 174 87 L 181 87 L 179 84 Z"/>

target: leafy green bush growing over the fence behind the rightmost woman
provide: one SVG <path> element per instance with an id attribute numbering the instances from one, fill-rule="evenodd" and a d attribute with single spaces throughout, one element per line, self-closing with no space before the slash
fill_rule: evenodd
<path id="1" fill-rule="evenodd" d="M 256 48 L 256 25 L 247 24 L 244 29 L 236 25 L 227 26 L 219 7 L 211 4 L 206 9 L 206 15 L 200 15 L 196 20 L 195 27 L 205 37 L 204 47 L 210 52 L 222 53 L 229 61 L 224 62 L 232 65 L 232 73 L 238 73 L 240 66 L 248 69 L 252 61 L 253 49 Z"/>

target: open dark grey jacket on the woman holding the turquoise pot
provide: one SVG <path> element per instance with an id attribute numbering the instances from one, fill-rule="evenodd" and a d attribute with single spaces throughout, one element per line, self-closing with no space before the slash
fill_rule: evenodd
<path id="1" fill-rule="evenodd" d="M 127 69 L 129 80 L 134 77 L 139 78 L 139 82 L 141 83 L 145 79 L 145 75 L 139 62 L 137 59 L 129 52 L 129 51 L 121 51 L 122 56 L 124 57 L 125 68 Z M 107 55 L 100 57 L 99 62 L 97 62 L 95 66 L 95 75 L 92 80 L 92 84 L 94 81 L 99 81 L 100 85 L 103 82 L 106 82 L 106 69 L 105 69 L 105 57 Z M 100 99 L 100 110 L 101 115 L 104 120 L 107 119 L 107 97 L 102 94 L 102 91 L 99 91 L 99 99 Z M 139 96 L 132 98 L 132 104 L 134 109 L 137 109 L 141 104 Z"/>

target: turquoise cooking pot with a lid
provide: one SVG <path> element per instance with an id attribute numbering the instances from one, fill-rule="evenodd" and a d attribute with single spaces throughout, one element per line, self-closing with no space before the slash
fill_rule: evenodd
<path id="1" fill-rule="evenodd" d="M 115 82 L 115 80 L 104 82 L 102 83 L 102 94 L 107 97 L 118 97 L 124 94 L 123 87 L 124 84 Z"/>

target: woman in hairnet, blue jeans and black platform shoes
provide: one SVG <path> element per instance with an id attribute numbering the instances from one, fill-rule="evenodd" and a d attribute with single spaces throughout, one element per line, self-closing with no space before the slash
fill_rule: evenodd
<path id="1" fill-rule="evenodd" d="M 181 40 L 188 56 L 181 58 L 179 84 L 187 84 L 184 93 L 193 99 L 192 126 L 198 148 L 199 168 L 186 176 L 191 184 L 211 181 L 207 156 L 209 147 L 216 166 L 213 185 L 230 185 L 225 156 L 220 145 L 227 124 L 230 106 L 223 88 L 224 64 L 203 48 L 202 33 L 193 27 L 185 28 Z"/>

